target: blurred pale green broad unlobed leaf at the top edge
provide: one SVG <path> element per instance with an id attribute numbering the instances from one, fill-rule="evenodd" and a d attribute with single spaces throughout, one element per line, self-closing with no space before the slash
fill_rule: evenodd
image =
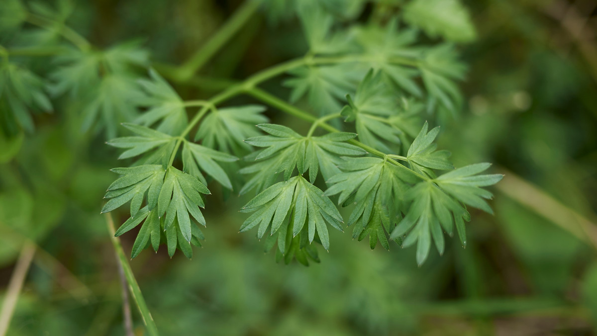
<path id="1" fill-rule="evenodd" d="M 442 36 L 454 42 L 476 38 L 469 11 L 458 0 L 413 0 L 404 7 L 404 20 L 432 38 Z"/>

